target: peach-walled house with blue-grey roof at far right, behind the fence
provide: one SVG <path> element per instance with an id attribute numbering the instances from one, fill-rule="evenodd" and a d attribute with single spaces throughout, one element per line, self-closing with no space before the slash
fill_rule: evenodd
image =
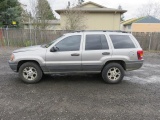
<path id="1" fill-rule="evenodd" d="M 160 32 L 160 20 L 152 16 L 133 18 L 122 22 L 121 30 L 127 32 Z"/>

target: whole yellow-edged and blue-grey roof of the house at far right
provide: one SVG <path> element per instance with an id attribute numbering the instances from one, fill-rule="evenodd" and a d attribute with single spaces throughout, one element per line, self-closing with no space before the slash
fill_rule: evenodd
<path id="1" fill-rule="evenodd" d="M 131 25 L 132 23 L 160 23 L 160 20 L 152 16 L 132 18 L 126 21 L 121 22 L 123 25 Z"/>

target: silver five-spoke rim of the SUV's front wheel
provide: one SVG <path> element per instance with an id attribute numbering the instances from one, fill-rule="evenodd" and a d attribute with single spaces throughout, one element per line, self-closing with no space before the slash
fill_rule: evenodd
<path id="1" fill-rule="evenodd" d="M 37 77 L 37 70 L 34 67 L 26 67 L 23 70 L 23 77 L 27 80 L 35 80 Z"/>

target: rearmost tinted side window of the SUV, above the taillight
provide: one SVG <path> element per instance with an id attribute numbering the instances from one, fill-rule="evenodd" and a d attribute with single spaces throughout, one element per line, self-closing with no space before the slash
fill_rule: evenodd
<path id="1" fill-rule="evenodd" d="M 110 35 L 115 49 L 135 48 L 135 45 L 128 35 Z"/>

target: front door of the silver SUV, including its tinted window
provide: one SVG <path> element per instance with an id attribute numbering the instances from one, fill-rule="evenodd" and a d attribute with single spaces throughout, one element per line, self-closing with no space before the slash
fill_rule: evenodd
<path id="1" fill-rule="evenodd" d="M 65 36 L 54 47 L 58 50 L 46 53 L 46 66 L 50 72 L 81 71 L 82 34 Z M 53 46 L 52 46 L 53 47 Z"/>

